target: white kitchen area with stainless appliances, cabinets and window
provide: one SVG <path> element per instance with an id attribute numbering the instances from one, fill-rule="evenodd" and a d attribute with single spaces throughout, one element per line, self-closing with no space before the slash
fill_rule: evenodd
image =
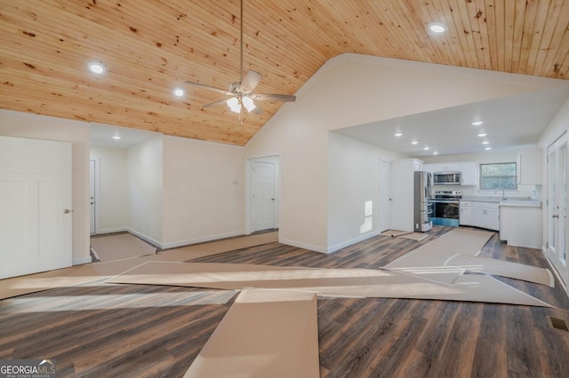
<path id="1" fill-rule="evenodd" d="M 471 226 L 499 232 L 508 245 L 541 248 L 541 154 L 530 150 L 517 154 L 516 161 L 496 164 L 392 161 L 392 228 L 429 232 L 432 225 Z M 484 169 L 501 164 L 514 169 L 509 181 L 484 176 Z M 400 211 L 405 206 L 398 206 L 405 197 L 413 199 L 406 205 L 413 211 L 407 214 Z"/>

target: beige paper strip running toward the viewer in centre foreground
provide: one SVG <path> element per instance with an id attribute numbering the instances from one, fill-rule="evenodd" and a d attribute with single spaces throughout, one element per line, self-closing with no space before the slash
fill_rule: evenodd
<path id="1" fill-rule="evenodd" d="M 317 295 L 244 289 L 186 378 L 320 376 Z"/>

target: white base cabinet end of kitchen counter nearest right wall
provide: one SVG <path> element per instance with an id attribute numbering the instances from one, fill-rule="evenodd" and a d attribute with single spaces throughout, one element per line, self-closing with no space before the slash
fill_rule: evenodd
<path id="1" fill-rule="evenodd" d="M 541 248 L 541 207 L 500 207 L 500 240 L 509 246 Z"/>

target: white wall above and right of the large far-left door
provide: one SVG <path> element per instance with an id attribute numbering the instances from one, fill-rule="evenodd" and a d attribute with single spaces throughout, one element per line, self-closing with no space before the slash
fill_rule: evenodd
<path id="1" fill-rule="evenodd" d="M 89 123 L 0 110 L 0 135 L 71 142 L 73 169 L 73 264 L 89 255 Z"/>

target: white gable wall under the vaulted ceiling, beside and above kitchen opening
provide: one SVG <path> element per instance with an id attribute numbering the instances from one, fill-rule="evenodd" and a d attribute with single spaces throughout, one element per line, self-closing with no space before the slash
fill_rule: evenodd
<path id="1" fill-rule="evenodd" d="M 245 155 L 281 152 L 280 240 L 328 250 L 329 130 L 539 90 L 539 79 L 354 54 L 329 60 L 245 146 Z"/>

